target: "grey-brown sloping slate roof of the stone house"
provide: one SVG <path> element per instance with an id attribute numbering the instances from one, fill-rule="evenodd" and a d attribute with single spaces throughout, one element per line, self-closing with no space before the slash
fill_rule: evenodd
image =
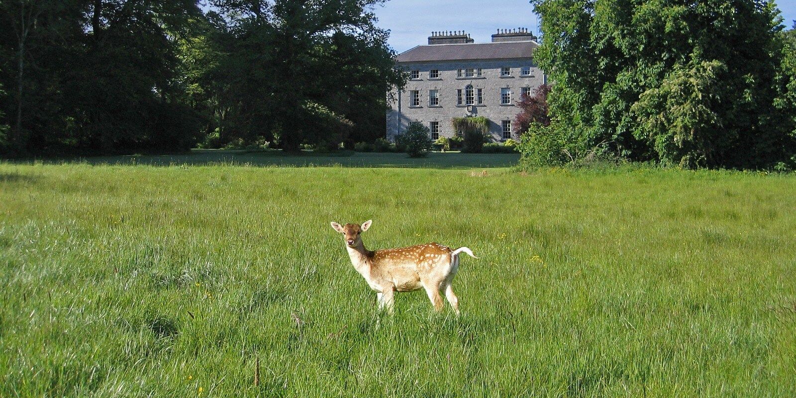
<path id="1" fill-rule="evenodd" d="M 414 49 L 398 54 L 396 62 L 530 58 L 533 54 L 533 50 L 537 47 L 539 47 L 539 45 L 536 41 L 418 45 Z"/>

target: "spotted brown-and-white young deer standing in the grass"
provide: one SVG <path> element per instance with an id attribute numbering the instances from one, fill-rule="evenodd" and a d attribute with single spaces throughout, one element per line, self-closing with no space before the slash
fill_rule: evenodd
<path id="1" fill-rule="evenodd" d="M 387 307 L 392 312 L 393 295 L 396 291 L 426 290 L 434 309 L 443 309 L 445 291 L 447 301 L 458 314 L 458 298 L 451 283 L 458 271 L 458 253 L 465 252 L 473 258 L 469 248 L 453 250 L 437 243 L 416 244 L 408 248 L 383 249 L 372 252 L 362 243 L 362 232 L 373 224 L 367 220 L 359 224 L 331 223 L 335 231 L 345 236 L 345 248 L 353 267 L 365 277 L 365 281 L 376 291 L 379 308 Z"/>

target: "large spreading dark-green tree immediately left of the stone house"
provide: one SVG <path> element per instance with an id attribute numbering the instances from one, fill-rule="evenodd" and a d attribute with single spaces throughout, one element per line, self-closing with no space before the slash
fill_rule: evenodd
<path id="1" fill-rule="evenodd" d="M 216 0 L 228 114 L 222 141 L 277 139 L 336 146 L 365 137 L 401 76 L 388 32 L 375 25 L 383 0 Z"/>

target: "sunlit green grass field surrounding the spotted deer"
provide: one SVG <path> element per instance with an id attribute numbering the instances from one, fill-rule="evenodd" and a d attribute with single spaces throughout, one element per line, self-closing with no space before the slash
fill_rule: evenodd
<path id="1" fill-rule="evenodd" d="M 0 163 L 0 396 L 796 396 L 792 175 L 451 162 Z M 461 317 L 377 313 L 368 219 Z"/>

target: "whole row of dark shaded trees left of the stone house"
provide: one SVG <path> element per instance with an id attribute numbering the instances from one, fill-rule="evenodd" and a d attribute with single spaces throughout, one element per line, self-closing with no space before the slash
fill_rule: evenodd
<path id="1" fill-rule="evenodd" d="M 373 141 L 383 1 L 0 2 L 0 153 Z"/>

